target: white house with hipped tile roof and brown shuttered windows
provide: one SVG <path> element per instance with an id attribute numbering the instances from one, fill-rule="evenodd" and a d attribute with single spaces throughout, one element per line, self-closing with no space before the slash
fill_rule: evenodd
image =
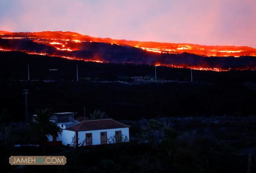
<path id="1" fill-rule="evenodd" d="M 130 126 L 112 119 L 88 120 L 68 128 L 63 127 L 58 140 L 62 141 L 62 145 L 69 145 L 73 138 L 76 146 L 129 142 L 129 129 Z"/>

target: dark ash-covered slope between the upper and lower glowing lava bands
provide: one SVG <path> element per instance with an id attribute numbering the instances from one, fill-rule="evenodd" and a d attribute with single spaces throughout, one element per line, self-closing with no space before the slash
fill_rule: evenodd
<path id="1" fill-rule="evenodd" d="M 6 50 L 47 53 L 48 55 L 76 57 L 76 59 L 84 60 L 100 60 L 108 63 L 163 64 L 180 67 L 192 65 L 198 68 L 222 69 L 254 69 L 256 67 L 256 58 L 250 56 L 204 57 L 190 53 L 154 53 L 137 47 L 90 41 L 72 43 L 72 47 L 77 50 L 60 51 L 50 44 L 41 44 L 31 38 L 0 39 L 0 48 Z"/>

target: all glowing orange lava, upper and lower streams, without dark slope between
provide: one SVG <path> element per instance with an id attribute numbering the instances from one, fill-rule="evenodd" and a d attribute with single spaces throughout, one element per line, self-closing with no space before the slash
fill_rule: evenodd
<path id="1" fill-rule="evenodd" d="M 110 39 L 110 38 L 99 38 L 99 37 L 90 37 L 88 35 L 82 35 L 79 33 L 74 33 L 74 32 L 62 32 L 62 31 L 43 31 L 43 32 L 20 32 L 20 33 L 11 33 L 11 32 L 0 32 L 0 39 L 24 39 L 24 40 L 32 40 L 35 43 L 38 44 L 44 44 L 48 45 L 50 49 L 52 50 L 51 52 L 54 53 L 46 53 L 45 52 L 31 52 L 31 51 L 26 51 L 26 50 L 21 50 L 23 52 L 29 53 L 29 54 L 34 54 L 34 55 L 47 55 L 47 56 L 58 56 L 66 59 L 71 59 L 71 60 L 84 60 L 81 57 L 76 57 L 79 54 L 76 54 L 80 49 L 83 50 L 83 45 L 84 42 L 98 42 L 98 43 L 109 43 L 113 47 L 116 45 L 121 45 L 121 46 L 130 46 L 130 47 L 136 47 L 138 49 L 147 51 L 147 55 L 156 55 L 156 57 L 160 57 L 159 55 L 164 54 L 181 54 L 181 53 L 190 53 L 190 54 L 195 54 L 199 55 L 201 57 L 221 57 L 223 59 L 226 59 L 226 57 L 233 57 L 234 59 L 238 59 L 236 57 L 240 56 L 256 56 L 256 49 L 252 47 L 247 47 L 247 46 L 242 46 L 242 47 L 236 47 L 236 46 L 206 46 L 206 45 L 196 45 L 196 44 L 186 44 L 186 43 L 158 43 L 158 42 L 148 42 L 148 41 L 127 41 L 127 40 L 117 40 L 117 39 Z M 92 43 L 91 45 L 93 45 Z M 89 45 L 89 44 L 86 44 Z M 56 51 L 54 51 L 54 49 Z M 13 51 L 15 49 L 6 49 L 6 48 L 1 48 L 0 51 Z M 43 49 L 44 50 L 44 49 Z M 148 54 L 150 52 L 150 54 Z M 73 54 L 72 54 L 73 53 Z M 65 56 L 64 56 L 65 55 Z M 66 56 L 67 55 L 67 56 Z M 72 56 L 73 55 L 73 56 Z M 103 55 L 102 55 L 103 57 Z M 162 55 L 161 55 L 162 57 Z M 174 67 L 174 68 L 190 68 L 188 64 L 183 63 L 177 63 L 174 64 L 172 61 L 161 61 L 161 57 L 158 59 L 151 61 L 148 64 L 153 64 L 154 62 L 162 62 L 156 65 L 161 65 L 161 66 L 166 66 L 166 67 Z M 168 56 L 165 56 L 168 57 Z M 85 58 L 86 59 L 86 58 Z M 99 60 L 100 59 L 100 60 Z M 167 59 L 167 58 L 166 58 Z M 84 61 L 94 61 L 94 62 L 99 62 L 103 63 L 105 62 L 104 59 L 102 58 L 93 58 L 90 57 Z M 108 61 L 108 60 L 106 60 Z M 133 61 L 134 62 L 134 61 Z M 152 63 L 153 62 L 153 63 Z M 164 62 L 171 62 L 170 64 L 164 63 Z M 106 63 L 106 62 L 105 62 Z M 115 62 L 113 62 L 115 63 Z M 129 62 L 125 62 L 129 63 Z M 138 63 L 138 61 L 135 63 Z M 182 65 L 180 65 L 182 64 Z M 197 64 L 192 66 L 192 69 L 195 70 L 204 70 L 204 71 L 228 71 L 230 70 L 229 68 L 222 69 L 219 67 L 219 65 L 212 66 L 212 64 Z M 244 66 L 244 69 L 254 69 L 254 67 L 248 67 Z M 239 70 L 243 69 L 237 68 Z"/>

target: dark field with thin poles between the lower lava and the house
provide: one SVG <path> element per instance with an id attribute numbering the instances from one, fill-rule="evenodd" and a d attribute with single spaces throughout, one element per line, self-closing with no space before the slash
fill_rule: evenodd
<path id="1" fill-rule="evenodd" d="M 26 81 L 28 64 L 30 81 Z M 24 120 L 23 90 L 28 89 L 30 114 L 35 108 L 53 108 L 54 112 L 83 115 L 85 107 L 88 115 L 101 109 L 118 120 L 256 115 L 256 71 L 193 70 L 192 83 L 190 69 L 157 67 L 157 83 L 154 72 L 154 66 L 149 65 L 102 64 L 1 52 L 0 99 L 4 101 L 0 109 L 9 110 L 15 121 Z"/>

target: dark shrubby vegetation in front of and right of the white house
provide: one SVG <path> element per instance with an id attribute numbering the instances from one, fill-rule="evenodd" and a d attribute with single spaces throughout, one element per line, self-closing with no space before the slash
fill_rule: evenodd
<path id="1" fill-rule="evenodd" d="M 1 119 L 2 121 L 2 119 Z M 124 121 L 131 126 L 130 143 L 92 147 L 46 147 L 43 155 L 64 155 L 64 166 L 12 166 L 10 155 L 42 155 L 24 123 L 1 122 L 10 143 L 1 140 L 3 172 L 12 173 L 251 173 L 256 171 L 256 117 L 158 118 Z M 250 158 L 250 161 L 249 161 Z"/>

